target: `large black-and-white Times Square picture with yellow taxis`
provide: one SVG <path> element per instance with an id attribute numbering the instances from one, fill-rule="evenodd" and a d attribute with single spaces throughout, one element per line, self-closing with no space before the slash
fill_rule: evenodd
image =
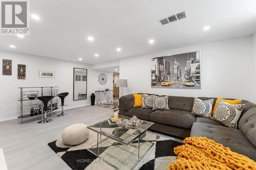
<path id="1" fill-rule="evenodd" d="M 151 58 L 151 87 L 201 88 L 201 52 Z"/>

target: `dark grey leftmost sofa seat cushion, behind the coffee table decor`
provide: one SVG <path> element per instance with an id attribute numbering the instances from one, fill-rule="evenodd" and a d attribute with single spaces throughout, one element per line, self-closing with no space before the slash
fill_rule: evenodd
<path id="1" fill-rule="evenodd" d="M 140 107 L 133 107 L 129 111 L 124 111 L 125 116 L 133 117 L 134 115 L 143 120 L 149 120 L 149 115 L 152 113 L 152 109 L 141 109 Z"/>

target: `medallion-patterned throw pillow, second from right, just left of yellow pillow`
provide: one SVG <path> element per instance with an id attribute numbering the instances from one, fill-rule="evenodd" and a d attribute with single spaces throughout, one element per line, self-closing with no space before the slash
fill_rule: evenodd
<path id="1" fill-rule="evenodd" d="M 195 98 L 191 113 L 200 117 L 211 117 L 212 104 L 214 104 L 214 99 L 202 101 Z"/>

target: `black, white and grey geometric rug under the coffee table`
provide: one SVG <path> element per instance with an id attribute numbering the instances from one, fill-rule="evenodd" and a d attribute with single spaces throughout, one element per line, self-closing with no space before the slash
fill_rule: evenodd
<path id="1" fill-rule="evenodd" d="M 151 132 L 146 132 L 142 136 L 142 139 L 151 141 L 154 143 L 154 145 L 140 160 L 140 162 L 135 166 L 134 169 L 166 170 L 168 168 L 168 165 L 174 162 L 177 158 L 174 153 L 174 148 L 183 144 L 175 140 L 160 137 Z M 90 131 L 90 136 L 87 141 L 79 145 L 66 145 L 62 143 L 61 139 L 50 142 L 48 143 L 48 145 L 73 170 L 114 170 L 114 167 L 97 158 L 94 154 L 87 150 L 88 148 L 91 148 L 93 145 L 96 144 L 96 140 L 97 134 Z M 137 141 L 134 142 L 136 143 Z M 121 144 L 113 141 L 113 143 L 109 145 L 106 144 L 103 147 L 99 148 L 99 155 L 101 156 L 101 154 L 109 154 L 113 151 L 116 151 L 115 147 L 122 146 Z M 127 167 L 122 165 L 123 164 L 120 163 L 119 169 L 127 169 Z"/>

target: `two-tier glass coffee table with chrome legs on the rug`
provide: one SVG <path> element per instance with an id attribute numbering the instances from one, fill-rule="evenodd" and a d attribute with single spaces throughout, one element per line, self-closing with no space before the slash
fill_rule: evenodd
<path id="1" fill-rule="evenodd" d="M 122 116 L 125 118 L 130 118 Z M 117 169 L 133 169 L 154 145 L 143 139 L 154 123 L 143 120 L 134 128 L 110 126 L 108 120 L 89 126 L 97 133 L 97 144 L 88 151 Z"/>

